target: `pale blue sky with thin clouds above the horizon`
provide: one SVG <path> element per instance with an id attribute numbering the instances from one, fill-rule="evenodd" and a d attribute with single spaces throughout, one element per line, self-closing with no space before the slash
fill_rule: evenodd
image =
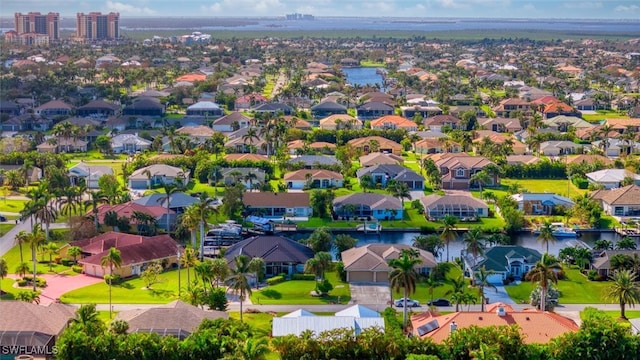
<path id="1" fill-rule="evenodd" d="M 490 17 L 640 19 L 639 0 L 2 0 L 0 14 L 118 11 L 121 16 Z"/>

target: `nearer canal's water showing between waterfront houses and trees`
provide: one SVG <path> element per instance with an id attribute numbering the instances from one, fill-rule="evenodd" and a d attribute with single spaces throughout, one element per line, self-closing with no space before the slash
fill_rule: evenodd
<path id="1" fill-rule="evenodd" d="M 363 246 L 367 244 L 375 244 L 375 243 L 384 243 L 384 244 L 406 244 L 411 245 L 413 243 L 413 239 L 421 235 L 420 232 L 381 232 L 380 234 L 364 234 L 362 232 L 340 232 L 335 231 L 333 235 L 337 234 L 347 234 L 358 240 L 356 246 Z M 296 240 L 302 240 L 309 237 L 311 233 L 296 233 L 295 236 L 291 236 Z M 531 249 L 535 249 L 540 251 L 540 253 L 544 253 L 546 251 L 546 247 L 541 244 L 537 238 L 538 236 L 532 233 L 520 233 L 515 236 L 516 244 L 522 245 L 524 247 L 528 247 Z M 614 244 L 620 239 L 620 236 L 613 231 L 609 232 L 594 232 L 594 233 L 583 233 L 579 238 L 558 238 L 555 243 L 549 243 L 549 253 L 553 255 L 558 255 L 560 250 L 564 247 L 571 246 L 571 240 L 580 240 L 586 243 L 589 246 L 593 246 L 597 240 L 609 240 Z M 636 243 L 638 241 L 636 240 Z M 640 246 L 639 246 L 640 247 Z M 462 237 L 460 236 L 457 241 L 451 242 L 449 244 L 449 258 L 455 258 L 460 256 L 460 252 L 464 249 L 464 243 L 462 241 Z M 441 257 L 438 260 L 446 259 L 447 250 L 446 248 L 442 251 Z"/>

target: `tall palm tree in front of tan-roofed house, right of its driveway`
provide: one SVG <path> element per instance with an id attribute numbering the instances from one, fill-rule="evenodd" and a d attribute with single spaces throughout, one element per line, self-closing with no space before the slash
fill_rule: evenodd
<path id="1" fill-rule="evenodd" d="M 403 298 L 403 326 L 407 327 L 407 303 L 409 294 L 416 292 L 418 272 L 416 266 L 422 263 L 416 250 L 404 249 L 397 259 L 389 260 L 389 266 L 393 269 L 389 273 L 389 285 L 395 291 L 404 290 Z"/>

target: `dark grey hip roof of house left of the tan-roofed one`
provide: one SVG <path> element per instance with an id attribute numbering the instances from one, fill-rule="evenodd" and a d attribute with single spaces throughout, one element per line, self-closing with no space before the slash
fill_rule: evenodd
<path id="1" fill-rule="evenodd" d="M 304 264 L 315 254 L 311 248 L 283 236 L 253 236 L 230 246 L 224 257 L 232 265 L 238 255 L 261 257 L 266 263 Z"/>

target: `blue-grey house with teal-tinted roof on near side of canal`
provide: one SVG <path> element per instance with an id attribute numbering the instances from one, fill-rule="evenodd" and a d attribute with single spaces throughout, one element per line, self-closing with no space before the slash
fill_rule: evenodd
<path id="1" fill-rule="evenodd" d="M 540 258 L 542 255 L 534 249 L 520 245 L 496 245 L 485 250 L 484 255 L 481 255 L 477 261 L 469 262 L 467 258 L 465 261 L 467 268 L 472 270 L 471 273 L 484 267 L 487 271 L 493 271 L 488 276 L 490 284 L 502 284 L 509 275 L 522 279 L 536 262 L 540 261 Z"/>

